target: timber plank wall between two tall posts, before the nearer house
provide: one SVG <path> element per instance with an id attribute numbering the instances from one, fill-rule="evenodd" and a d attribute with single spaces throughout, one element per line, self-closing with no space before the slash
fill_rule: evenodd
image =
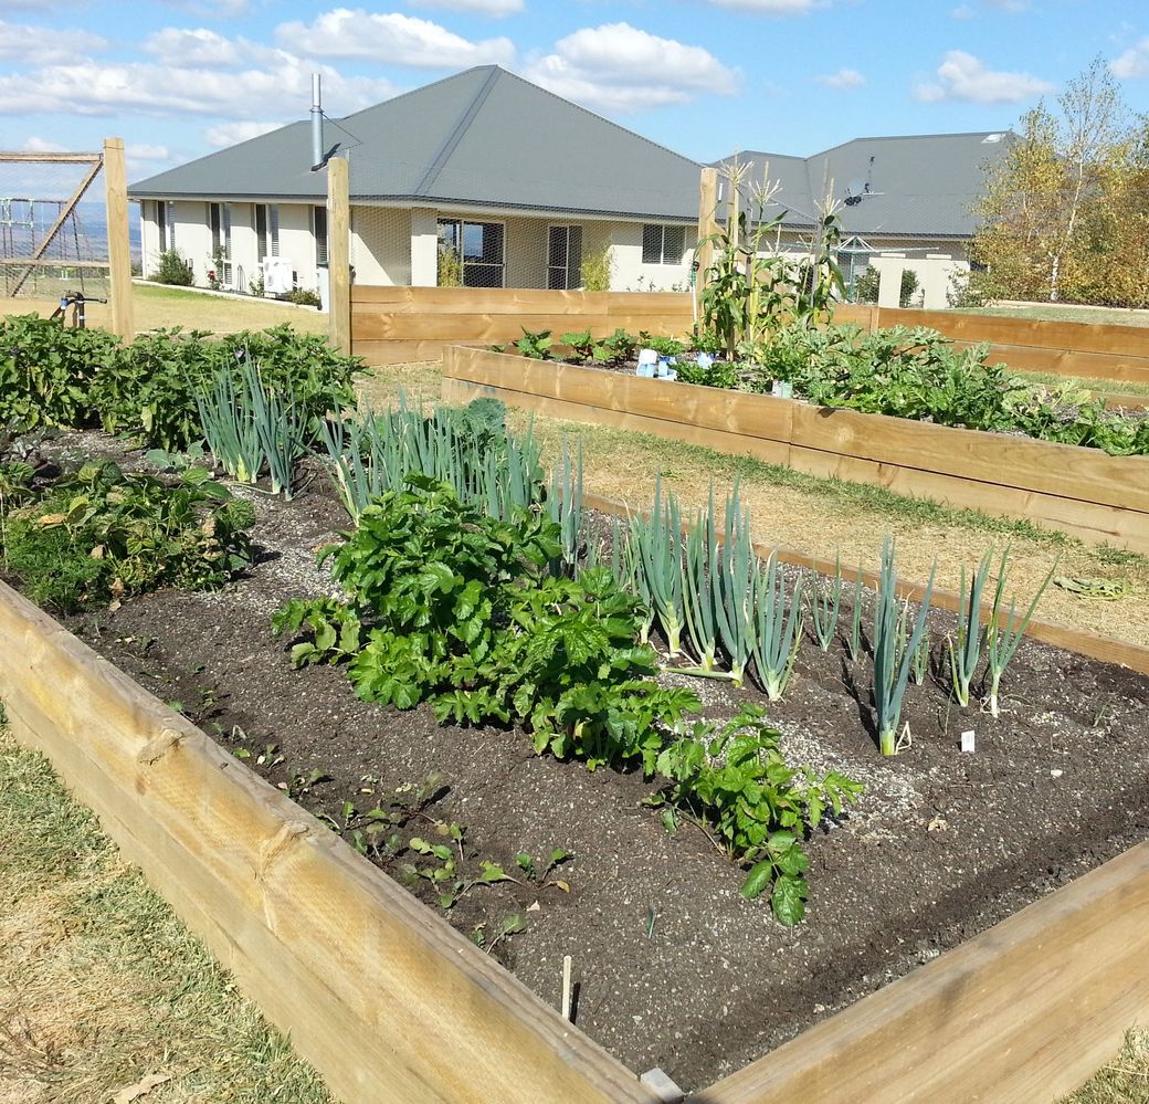
<path id="1" fill-rule="evenodd" d="M 603 338 L 619 327 L 680 335 L 694 324 L 692 301 L 684 292 L 354 285 L 352 352 L 379 365 L 438 360 L 448 345 L 517 341 L 524 329 L 549 330 L 555 340 L 583 330 Z"/>

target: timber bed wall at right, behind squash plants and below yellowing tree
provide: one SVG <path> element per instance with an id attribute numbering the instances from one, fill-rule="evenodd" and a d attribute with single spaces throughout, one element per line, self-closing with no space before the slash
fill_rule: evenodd
<path id="1" fill-rule="evenodd" d="M 1149 384 L 1149 326 L 1042 322 L 861 304 L 840 306 L 834 319 L 867 330 L 928 326 L 963 346 L 988 341 L 990 361 L 1004 361 L 1019 371 Z"/>

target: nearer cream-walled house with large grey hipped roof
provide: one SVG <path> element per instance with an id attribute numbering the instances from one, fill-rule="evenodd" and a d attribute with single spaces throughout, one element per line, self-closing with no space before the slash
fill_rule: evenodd
<path id="1" fill-rule="evenodd" d="M 360 283 L 577 288 L 606 256 L 611 288 L 688 285 L 702 167 L 496 65 L 327 119 L 323 147 L 348 161 Z M 145 273 L 175 248 L 201 286 L 257 291 L 278 258 L 321 287 L 311 162 L 298 122 L 132 185 Z"/>

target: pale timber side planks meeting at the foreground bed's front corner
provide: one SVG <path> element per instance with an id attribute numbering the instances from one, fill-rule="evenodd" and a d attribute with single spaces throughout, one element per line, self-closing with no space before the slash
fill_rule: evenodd
<path id="1" fill-rule="evenodd" d="M 17 740 L 347 1104 L 668 1099 L 2 584 L 0 639 Z M 689 1101 L 1052 1102 L 1147 1006 L 1142 843 Z"/>

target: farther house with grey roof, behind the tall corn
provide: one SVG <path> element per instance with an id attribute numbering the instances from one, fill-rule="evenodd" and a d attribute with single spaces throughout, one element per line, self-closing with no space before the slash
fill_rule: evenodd
<path id="1" fill-rule="evenodd" d="M 804 254 L 828 195 L 836 206 L 836 260 L 848 287 L 872 264 L 884 277 L 884 304 L 896 307 L 901 272 L 912 269 L 920 304 L 944 308 L 955 273 L 970 269 L 972 207 L 984 193 L 986 171 L 1015 140 L 1009 131 L 979 131 L 856 138 L 810 157 L 740 153 L 742 209 L 755 223 L 780 217 L 762 241 L 770 247 L 764 252 Z M 735 157 L 715 162 L 719 179 Z M 759 207 L 751 186 L 764 179 L 777 191 Z M 725 183 L 728 188 L 728 177 Z"/>

